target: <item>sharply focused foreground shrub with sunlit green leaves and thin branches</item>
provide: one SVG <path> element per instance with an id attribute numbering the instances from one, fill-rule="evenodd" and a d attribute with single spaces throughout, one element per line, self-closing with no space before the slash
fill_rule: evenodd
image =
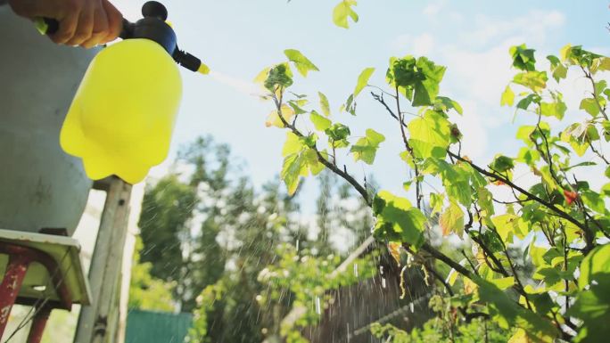
<path id="1" fill-rule="evenodd" d="M 347 27 L 345 13 L 353 15 L 352 5 L 338 5 L 337 25 Z M 286 62 L 266 69 L 258 78 L 268 90 L 264 98 L 273 103 L 280 124 L 276 127 L 287 131 L 281 177 L 289 193 L 302 177 L 315 176 L 322 168 L 350 184 L 373 209 L 375 238 L 400 244 L 411 256 L 410 265 L 420 265 L 446 287 L 449 304 L 462 321 L 477 317 L 503 330 L 515 328 L 512 342 L 601 341 L 610 333 L 610 169 L 602 149 L 610 141 L 610 89 L 602 79 L 610 59 L 567 45 L 558 57 L 548 56 L 549 68 L 543 70 L 526 45 L 509 53 L 515 76 L 500 104 L 515 106 L 530 124 L 519 127 L 516 139 L 522 148 L 516 156 L 498 151 L 487 164 L 469 159 L 461 149 L 463 136 L 451 118 L 463 110 L 441 96 L 446 68 L 424 56 L 390 60 L 385 89 L 375 87 L 383 91 L 372 95 L 400 129 L 400 159 L 412 170 L 405 188 L 413 201 L 390 191 L 371 196 L 366 181 L 357 180 L 337 158 L 336 152 L 345 149 L 356 161 L 378 165 L 376 151 L 385 143 L 381 133 L 367 129 L 355 139 L 338 116 L 321 121 L 315 102 L 306 95 L 292 97 L 298 82 Z M 355 99 L 373 70 L 361 73 L 342 111 L 356 115 Z M 589 82 L 581 111 L 574 116 L 566 116 L 564 96 L 549 81 L 561 86 L 568 72 Z M 285 115 L 283 107 L 293 102 L 300 103 L 299 110 Z M 406 117 L 407 111 L 416 113 Z M 530 170 L 536 183 L 520 185 L 514 177 L 517 167 Z M 593 188 L 587 182 L 592 175 L 606 177 L 606 184 Z M 425 185 L 431 183 L 441 187 L 428 190 Z M 514 199 L 500 199 L 497 187 L 507 188 Z M 461 256 L 433 241 L 433 216 L 424 202 L 440 214 L 442 236 L 456 237 L 466 246 Z"/>

